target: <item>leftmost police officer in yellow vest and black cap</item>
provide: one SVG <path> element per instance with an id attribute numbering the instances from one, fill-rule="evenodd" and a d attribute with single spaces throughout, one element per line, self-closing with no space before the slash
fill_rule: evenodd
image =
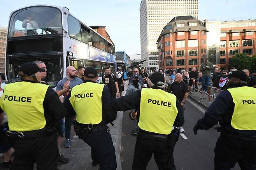
<path id="1" fill-rule="evenodd" d="M 32 62 L 19 68 L 21 82 L 7 84 L 0 99 L 0 113 L 7 114 L 9 132 L 14 137 L 15 157 L 12 170 L 55 170 L 58 147 L 54 120 L 66 114 L 56 92 L 39 83 L 41 70 Z"/>

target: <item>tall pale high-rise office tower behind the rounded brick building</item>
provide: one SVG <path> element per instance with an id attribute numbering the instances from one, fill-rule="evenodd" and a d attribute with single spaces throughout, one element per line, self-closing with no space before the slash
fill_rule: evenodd
<path id="1" fill-rule="evenodd" d="M 198 18 L 198 0 L 142 0 L 140 3 L 140 49 L 143 66 L 158 67 L 156 40 L 163 27 L 176 16 Z"/>

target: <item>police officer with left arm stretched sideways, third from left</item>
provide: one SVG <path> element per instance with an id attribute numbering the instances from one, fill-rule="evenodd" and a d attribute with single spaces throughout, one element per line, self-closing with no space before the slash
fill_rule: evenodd
<path id="1" fill-rule="evenodd" d="M 159 170 L 176 170 L 174 145 L 169 144 L 168 138 L 170 139 L 172 126 L 180 127 L 184 124 L 182 107 L 174 94 L 163 90 L 165 79 L 161 73 L 153 73 L 150 80 L 151 88 L 142 88 L 114 99 L 113 106 L 117 111 L 138 111 L 137 121 L 140 129 L 132 169 L 146 170 L 147 163 L 154 153 Z M 176 135 L 179 137 L 179 134 Z"/>

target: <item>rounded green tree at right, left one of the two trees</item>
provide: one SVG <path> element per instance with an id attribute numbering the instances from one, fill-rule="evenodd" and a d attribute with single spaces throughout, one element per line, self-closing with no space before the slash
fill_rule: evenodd
<path id="1" fill-rule="evenodd" d="M 252 57 L 249 57 L 244 53 L 235 54 L 235 56 L 230 59 L 230 67 L 235 67 L 239 71 L 242 71 L 245 68 L 251 70 L 251 66 Z"/>

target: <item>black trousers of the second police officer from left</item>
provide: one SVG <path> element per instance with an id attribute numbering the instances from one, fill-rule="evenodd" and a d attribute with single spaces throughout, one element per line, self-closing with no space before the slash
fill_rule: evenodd
<path id="1" fill-rule="evenodd" d="M 83 139 L 92 149 L 92 160 L 98 161 L 99 170 L 115 170 L 116 153 L 113 146 L 112 138 L 105 127 L 97 131 L 91 131 L 86 139 Z"/>

